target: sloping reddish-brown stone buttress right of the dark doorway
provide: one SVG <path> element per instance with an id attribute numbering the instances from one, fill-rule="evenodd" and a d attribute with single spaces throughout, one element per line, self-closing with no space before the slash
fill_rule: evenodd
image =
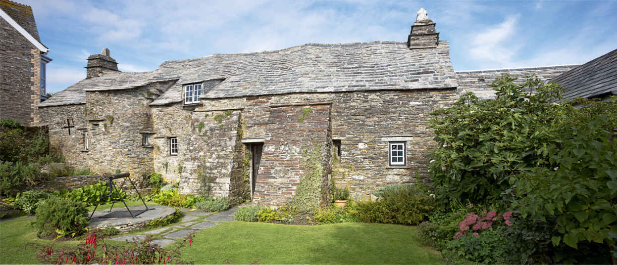
<path id="1" fill-rule="evenodd" d="M 323 184 L 329 184 L 330 105 L 271 106 L 268 137 L 263 143 L 253 200 L 282 205 L 296 194 L 305 174 L 305 152 L 319 148 L 324 168 Z M 322 187 L 323 188 L 323 187 Z"/>

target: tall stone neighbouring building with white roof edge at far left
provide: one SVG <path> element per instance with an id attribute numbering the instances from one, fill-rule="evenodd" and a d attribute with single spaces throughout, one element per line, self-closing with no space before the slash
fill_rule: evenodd
<path id="1" fill-rule="evenodd" d="M 0 118 L 38 123 L 38 104 L 47 99 L 49 49 L 41 44 L 30 6 L 0 0 Z"/>

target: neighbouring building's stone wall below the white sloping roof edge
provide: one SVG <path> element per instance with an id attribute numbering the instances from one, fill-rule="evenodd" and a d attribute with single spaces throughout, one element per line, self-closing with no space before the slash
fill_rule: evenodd
<path id="1" fill-rule="evenodd" d="M 40 63 L 40 51 L 0 18 L 0 118 L 38 123 Z"/>

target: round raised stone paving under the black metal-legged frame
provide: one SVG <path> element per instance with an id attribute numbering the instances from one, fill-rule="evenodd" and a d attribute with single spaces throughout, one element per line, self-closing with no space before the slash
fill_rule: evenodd
<path id="1" fill-rule="evenodd" d="M 145 210 L 143 205 L 130 206 L 129 209 L 133 214 Z M 120 232 L 128 232 L 138 229 L 139 227 L 146 226 L 148 222 L 154 219 L 170 216 L 176 211 L 176 209 L 173 207 L 162 205 L 148 205 L 148 209 L 150 210 L 144 211 L 138 216 L 135 216 L 135 218 L 131 217 L 131 214 L 126 211 L 126 207 L 124 206 L 113 208 L 111 211 L 109 211 L 109 209 L 95 211 L 92 219 L 90 219 L 90 225 L 88 227 L 115 227 L 116 229 L 120 230 Z M 92 212 L 88 213 L 88 216 L 91 213 Z"/>

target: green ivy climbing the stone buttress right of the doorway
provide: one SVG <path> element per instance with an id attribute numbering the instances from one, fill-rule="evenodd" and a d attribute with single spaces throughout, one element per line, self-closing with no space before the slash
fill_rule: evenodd
<path id="1" fill-rule="evenodd" d="M 292 198 L 292 205 L 300 212 L 313 211 L 319 206 L 321 196 L 321 176 L 323 176 L 323 165 L 321 165 L 322 154 L 321 145 L 315 144 L 310 149 L 302 149 L 304 161 L 304 175 L 300 177 L 300 184 L 296 190 L 296 195 Z"/>

